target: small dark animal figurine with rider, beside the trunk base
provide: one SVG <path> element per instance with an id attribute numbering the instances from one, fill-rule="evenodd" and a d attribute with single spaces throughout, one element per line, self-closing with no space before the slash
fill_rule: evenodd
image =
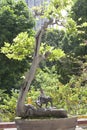
<path id="1" fill-rule="evenodd" d="M 40 96 L 38 97 L 38 100 L 36 101 L 36 105 L 38 107 L 42 107 L 43 104 L 46 104 L 46 108 L 47 108 L 49 102 L 50 102 L 51 107 L 52 107 L 53 106 L 52 98 L 49 96 L 46 96 L 44 94 L 43 89 L 40 88 Z"/>

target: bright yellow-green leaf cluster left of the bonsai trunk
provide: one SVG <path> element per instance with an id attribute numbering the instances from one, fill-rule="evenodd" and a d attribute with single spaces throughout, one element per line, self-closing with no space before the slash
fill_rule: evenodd
<path id="1" fill-rule="evenodd" d="M 6 54 L 9 59 L 23 60 L 26 56 L 29 57 L 32 55 L 34 43 L 34 37 L 29 37 L 27 32 L 22 32 L 13 39 L 12 45 L 5 43 L 5 46 L 1 48 L 1 52 Z"/>

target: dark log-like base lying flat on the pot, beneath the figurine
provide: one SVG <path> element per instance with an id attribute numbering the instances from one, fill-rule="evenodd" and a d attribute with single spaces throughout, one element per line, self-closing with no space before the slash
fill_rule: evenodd
<path id="1" fill-rule="evenodd" d="M 67 111 L 64 109 L 56 109 L 56 108 L 35 108 L 32 105 L 25 105 L 26 113 L 25 117 L 30 118 L 66 118 Z"/>

